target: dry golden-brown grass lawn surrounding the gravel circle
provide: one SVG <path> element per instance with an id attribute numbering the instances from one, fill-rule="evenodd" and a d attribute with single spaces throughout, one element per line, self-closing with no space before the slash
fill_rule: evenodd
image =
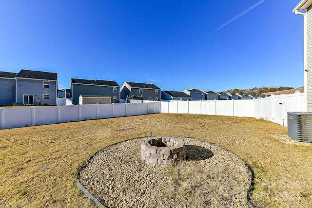
<path id="1" fill-rule="evenodd" d="M 196 138 L 241 157 L 259 208 L 312 207 L 312 144 L 249 117 L 158 113 L 0 130 L 0 207 L 96 207 L 77 173 L 98 150 L 153 135 Z"/>

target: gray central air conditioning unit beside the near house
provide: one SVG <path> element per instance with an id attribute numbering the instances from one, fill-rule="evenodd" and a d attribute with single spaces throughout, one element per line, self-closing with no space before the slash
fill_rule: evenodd
<path id="1" fill-rule="evenodd" d="M 312 142 L 312 113 L 287 112 L 288 136 L 300 142 Z"/>

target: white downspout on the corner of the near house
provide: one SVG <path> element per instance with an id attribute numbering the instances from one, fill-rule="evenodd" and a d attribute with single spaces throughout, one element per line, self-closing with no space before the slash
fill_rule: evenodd
<path id="1" fill-rule="evenodd" d="M 306 10 L 307 11 L 307 10 Z M 304 59 L 304 94 L 306 112 L 308 112 L 308 20 L 307 13 L 295 10 L 296 15 L 303 16 L 303 59 Z"/>

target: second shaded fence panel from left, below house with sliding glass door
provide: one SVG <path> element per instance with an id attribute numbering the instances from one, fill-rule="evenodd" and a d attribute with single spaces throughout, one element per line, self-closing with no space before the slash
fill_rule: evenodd
<path id="1" fill-rule="evenodd" d="M 58 107 L 33 107 L 33 125 L 46 125 L 58 123 Z"/>

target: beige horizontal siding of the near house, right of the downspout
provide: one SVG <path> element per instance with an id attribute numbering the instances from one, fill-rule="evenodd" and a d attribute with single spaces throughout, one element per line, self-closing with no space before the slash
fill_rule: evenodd
<path id="1" fill-rule="evenodd" d="M 308 18 L 308 27 L 307 27 L 307 64 L 308 64 L 308 72 L 307 72 L 307 108 L 308 112 L 312 112 L 312 10 L 307 12 Z"/>

